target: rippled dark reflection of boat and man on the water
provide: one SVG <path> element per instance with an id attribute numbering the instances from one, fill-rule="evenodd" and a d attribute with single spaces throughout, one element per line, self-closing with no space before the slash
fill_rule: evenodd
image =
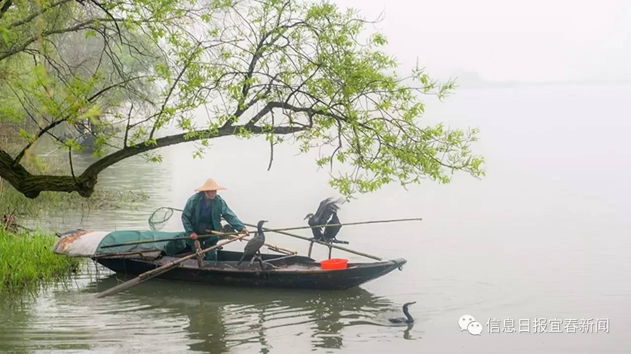
<path id="1" fill-rule="evenodd" d="M 121 281 L 117 277 L 120 276 L 102 278 L 86 291 L 100 292 L 112 287 Z M 225 353 L 236 347 L 247 351 L 259 348 L 261 353 L 267 353 L 274 341 L 287 336 L 304 337 L 302 343 L 309 343 L 310 348 L 339 349 L 344 346 L 346 327 L 385 326 L 376 316 L 393 307 L 391 301 L 360 287 L 344 291 L 257 291 L 162 280 L 131 288 L 125 298 L 136 300 L 140 307 L 186 316 L 189 325 L 184 330 L 189 349 L 208 353 Z M 151 323 L 157 319 L 147 320 Z"/>

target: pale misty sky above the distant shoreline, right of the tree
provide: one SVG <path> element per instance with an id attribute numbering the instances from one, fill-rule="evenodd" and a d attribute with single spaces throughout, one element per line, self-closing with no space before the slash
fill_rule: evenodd
<path id="1" fill-rule="evenodd" d="M 363 1 L 361 10 L 404 67 L 439 78 L 488 81 L 631 81 L 631 1 Z"/>

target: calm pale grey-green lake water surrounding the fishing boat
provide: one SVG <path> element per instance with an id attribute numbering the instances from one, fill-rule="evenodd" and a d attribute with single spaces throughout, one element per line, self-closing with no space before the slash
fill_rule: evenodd
<path id="1" fill-rule="evenodd" d="M 408 191 L 392 185 L 343 205 L 343 221 L 423 217 L 422 222 L 349 226 L 339 238 L 386 259 L 408 260 L 374 282 L 344 292 L 219 288 L 151 280 L 105 299 L 93 293 L 117 278 L 86 266 L 72 282 L 8 299 L 0 350 L 33 352 L 628 352 L 631 331 L 630 86 L 461 89 L 430 103 L 428 117 L 480 127 L 476 151 L 488 176 L 457 175 Z M 163 164 L 140 159 L 109 168 L 100 183 L 150 196 L 138 210 L 58 212 L 33 224 L 146 229 L 156 207 L 182 207 L 212 176 L 245 222 L 299 226 L 334 191 L 328 170 L 296 147 L 274 151 L 262 139 L 213 140 L 203 160 L 192 145 L 163 151 Z M 179 229 L 179 215 L 165 229 Z M 308 235 L 309 231 L 303 234 Z M 305 253 L 307 244 L 268 233 Z M 228 248 L 239 248 L 231 245 Z M 350 260 L 362 258 L 334 251 Z M 326 258 L 316 249 L 314 258 Z M 6 300 L 6 299 L 5 299 Z M 391 326 L 404 302 L 413 326 Z M 460 331 L 468 314 L 481 336 Z M 608 320 L 608 333 L 535 333 L 537 319 Z M 489 319 L 529 320 L 529 333 L 488 333 Z M 525 328 L 522 328 L 524 330 Z M 550 325 L 545 328 L 550 330 Z"/>

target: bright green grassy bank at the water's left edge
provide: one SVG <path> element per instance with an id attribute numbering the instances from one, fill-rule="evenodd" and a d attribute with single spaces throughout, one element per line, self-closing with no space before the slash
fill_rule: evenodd
<path id="1" fill-rule="evenodd" d="M 77 258 L 52 253 L 56 239 L 43 232 L 13 234 L 0 227 L 0 294 L 35 288 L 78 270 Z"/>

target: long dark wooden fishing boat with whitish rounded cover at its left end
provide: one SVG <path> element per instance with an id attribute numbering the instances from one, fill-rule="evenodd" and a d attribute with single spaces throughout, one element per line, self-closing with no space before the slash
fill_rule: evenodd
<path id="1" fill-rule="evenodd" d="M 139 232 L 139 234 L 143 234 L 146 238 L 147 232 L 149 231 Z M 109 235 L 110 233 L 103 231 L 69 232 L 57 241 L 54 252 L 67 256 L 89 257 L 112 271 L 129 275 L 139 275 L 183 256 L 182 254 L 165 255 L 163 244 L 156 246 L 160 243 L 140 244 L 115 250 L 103 249 L 103 244 L 116 244 L 121 241 L 120 238 L 115 240 Z M 152 232 L 151 236 L 160 239 L 160 237 L 166 238 L 173 234 Z M 392 270 L 401 270 L 407 262 L 399 258 L 370 263 L 348 263 L 346 268 L 327 270 L 322 269 L 318 261 L 307 256 L 262 254 L 264 269 L 261 270 L 261 266 L 256 261 L 252 264 L 244 261 L 237 266 L 241 256 L 241 252 L 220 250 L 217 252 L 216 261 L 203 261 L 201 268 L 196 259 L 190 259 L 158 275 L 158 278 L 209 285 L 346 289 L 382 277 Z"/>

